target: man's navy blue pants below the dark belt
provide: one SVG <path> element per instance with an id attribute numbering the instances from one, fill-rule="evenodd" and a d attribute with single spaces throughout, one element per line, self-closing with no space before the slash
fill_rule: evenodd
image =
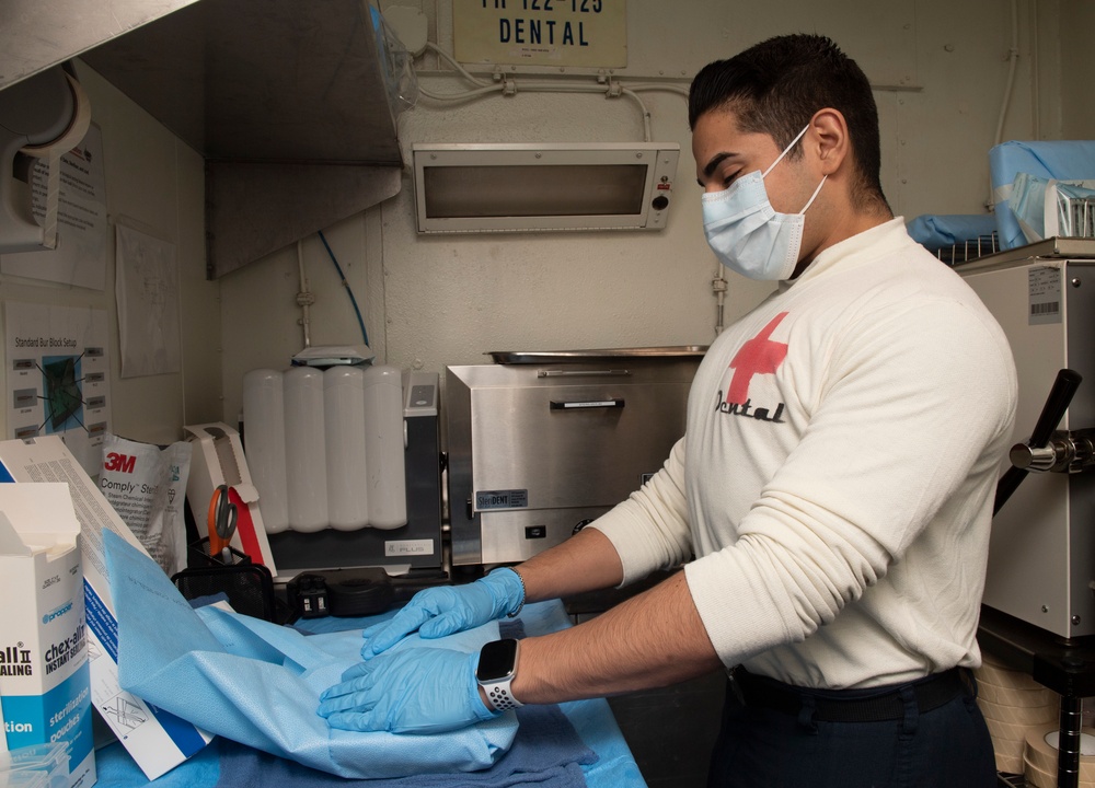
<path id="1" fill-rule="evenodd" d="M 797 716 L 746 707 L 729 684 L 707 786 L 994 788 L 992 741 L 973 694 L 925 712 L 906 696 L 903 719 L 829 722 L 806 707 Z"/>

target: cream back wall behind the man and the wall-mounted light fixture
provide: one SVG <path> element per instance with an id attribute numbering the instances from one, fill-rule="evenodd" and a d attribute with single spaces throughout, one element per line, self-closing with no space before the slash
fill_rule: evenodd
<path id="1" fill-rule="evenodd" d="M 381 9 L 391 4 L 422 9 L 429 39 L 451 51 L 449 0 L 397 0 L 381 2 Z M 726 0 L 631 0 L 630 65 L 616 76 L 622 82 L 659 79 L 687 88 L 708 60 L 770 35 L 831 35 L 876 85 L 883 181 L 895 212 L 911 219 L 984 210 L 988 150 L 1004 103 L 1012 45 L 1008 3 L 787 0 L 745 9 Z M 1015 9 L 1019 58 L 1003 137 L 1060 136 L 1058 5 L 1017 0 Z M 429 54 L 417 67 L 419 80 L 433 91 L 466 86 Z M 710 343 L 716 263 L 700 230 L 685 102 L 666 92 L 642 97 L 654 139 L 678 142 L 682 150 L 669 227 L 662 232 L 420 237 L 414 232 L 406 177 L 399 196 L 332 228 L 330 239 L 347 279 L 362 305 L 368 303 L 369 338 L 378 357 L 441 372 L 447 364 L 484 362 L 484 352 L 499 349 Z M 520 92 L 456 107 L 423 99 L 401 116 L 400 128 L 405 151 L 418 141 L 639 140 L 643 130 L 626 100 Z M 303 257 L 319 299 L 312 310 L 313 343 L 359 341 L 348 301 L 318 241 L 306 240 Z M 728 320 L 768 291 L 730 277 Z M 297 279 L 295 248 L 222 279 L 227 418 L 239 412 L 244 371 L 284 366 L 300 349 Z"/>

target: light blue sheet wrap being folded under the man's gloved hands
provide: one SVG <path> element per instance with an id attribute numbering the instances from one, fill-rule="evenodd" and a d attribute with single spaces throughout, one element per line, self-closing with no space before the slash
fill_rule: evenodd
<path id="1" fill-rule="evenodd" d="M 360 661 L 360 633 L 308 637 L 216 607 L 194 611 L 160 567 L 104 531 L 118 621 L 120 686 L 199 728 L 339 777 L 372 779 L 489 767 L 514 742 L 512 712 L 442 734 L 331 729 L 320 693 Z M 431 645 L 473 651 L 497 623 Z M 416 648 L 416 636 L 396 648 Z"/>

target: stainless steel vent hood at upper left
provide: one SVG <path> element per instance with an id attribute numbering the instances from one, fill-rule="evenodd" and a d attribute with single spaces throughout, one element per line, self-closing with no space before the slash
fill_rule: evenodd
<path id="1" fill-rule="evenodd" d="M 79 0 L 48 4 L 89 13 Z M 49 38 L 56 8 L 14 5 L 0 11 L 4 38 L 50 54 L 9 50 L 3 74 L 80 55 L 205 157 L 210 277 L 400 189 L 391 65 L 366 0 L 199 0 L 146 12 L 152 21 L 103 43 L 77 37 L 79 25 Z"/>

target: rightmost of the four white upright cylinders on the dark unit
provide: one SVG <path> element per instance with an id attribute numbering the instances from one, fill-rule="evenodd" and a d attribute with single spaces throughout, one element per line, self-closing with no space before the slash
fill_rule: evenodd
<path id="1" fill-rule="evenodd" d="M 395 367 L 365 371 L 365 449 L 369 524 L 378 529 L 406 525 L 403 373 Z"/>

